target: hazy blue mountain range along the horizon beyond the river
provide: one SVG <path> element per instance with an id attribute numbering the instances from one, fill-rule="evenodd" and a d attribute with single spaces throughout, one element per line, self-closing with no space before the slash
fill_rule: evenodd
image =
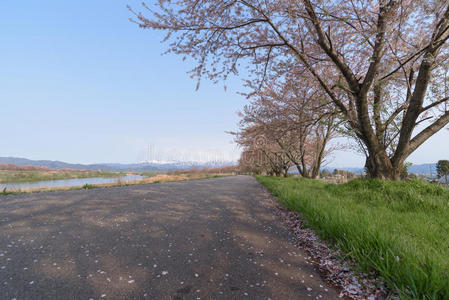
<path id="1" fill-rule="evenodd" d="M 236 162 L 149 162 L 138 164 L 70 164 L 55 160 L 31 160 L 18 157 L 0 157 L 0 163 L 14 164 L 17 166 L 38 166 L 51 169 L 74 169 L 74 170 L 103 170 L 103 171 L 168 171 L 192 168 L 221 168 L 236 165 Z"/>

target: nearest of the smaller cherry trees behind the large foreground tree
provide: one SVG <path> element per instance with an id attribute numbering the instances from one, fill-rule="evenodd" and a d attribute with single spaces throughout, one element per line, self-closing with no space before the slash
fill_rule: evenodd
<path id="1" fill-rule="evenodd" d="M 323 162 L 336 149 L 329 142 L 337 135 L 339 121 L 313 82 L 306 78 L 301 86 L 292 82 L 273 82 L 251 94 L 252 102 L 245 106 L 240 125 L 243 132 L 248 127 L 260 128 L 300 175 L 317 178 Z"/>

